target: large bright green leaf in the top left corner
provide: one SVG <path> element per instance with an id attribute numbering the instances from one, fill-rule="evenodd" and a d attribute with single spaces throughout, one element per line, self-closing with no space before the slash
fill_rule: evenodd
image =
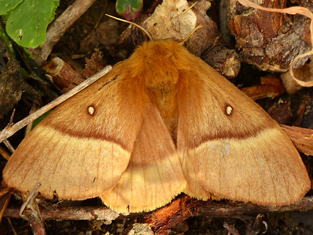
<path id="1" fill-rule="evenodd" d="M 6 31 L 20 46 L 38 47 L 46 40 L 47 26 L 55 9 L 54 0 L 24 0 L 8 18 Z"/>

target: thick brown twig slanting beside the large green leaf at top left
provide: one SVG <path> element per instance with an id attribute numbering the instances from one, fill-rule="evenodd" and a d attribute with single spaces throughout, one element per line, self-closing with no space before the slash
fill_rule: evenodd
<path id="1" fill-rule="evenodd" d="M 52 48 L 60 40 L 61 36 L 83 13 L 95 3 L 95 0 L 77 0 L 69 6 L 58 19 L 54 20 L 47 31 L 47 38 L 44 44 L 35 49 L 29 49 L 38 65 L 47 60 Z"/>

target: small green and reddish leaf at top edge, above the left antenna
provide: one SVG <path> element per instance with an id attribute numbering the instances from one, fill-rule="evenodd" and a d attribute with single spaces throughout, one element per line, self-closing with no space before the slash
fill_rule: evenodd
<path id="1" fill-rule="evenodd" d="M 116 12 L 127 20 L 134 20 L 143 10 L 143 0 L 117 0 Z"/>

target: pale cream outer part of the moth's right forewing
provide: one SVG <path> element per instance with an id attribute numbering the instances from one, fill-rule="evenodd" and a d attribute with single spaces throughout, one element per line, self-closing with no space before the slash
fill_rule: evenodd
<path id="1" fill-rule="evenodd" d="M 202 161 L 194 161 L 199 156 Z M 300 200 L 307 191 L 305 166 L 279 127 L 248 138 L 208 140 L 189 149 L 183 170 L 185 192 L 204 200 L 207 190 L 230 200 L 281 205 Z"/>

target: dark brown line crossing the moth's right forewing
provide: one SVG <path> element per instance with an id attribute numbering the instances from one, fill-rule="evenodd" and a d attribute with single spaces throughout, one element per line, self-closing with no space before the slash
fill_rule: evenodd
<path id="1" fill-rule="evenodd" d="M 271 126 L 259 126 L 253 130 L 250 129 L 246 129 L 243 131 L 239 131 L 238 129 L 236 131 L 232 131 L 230 133 L 230 131 L 219 131 L 219 133 L 213 134 L 213 135 L 206 135 L 206 136 L 202 136 L 202 138 L 195 138 L 194 141 L 189 141 L 188 143 L 188 147 L 191 148 L 195 148 L 195 147 L 199 147 L 202 143 L 205 143 L 209 140 L 218 140 L 218 139 L 225 139 L 225 138 L 232 138 L 232 139 L 238 139 L 238 140 L 244 140 L 244 139 L 248 139 L 251 137 L 255 137 L 257 136 L 259 133 L 261 133 L 262 131 L 265 130 L 270 130 L 270 129 L 277 129 L 279 128 L 275 122 L 273 122 L 271 124 Z"/>

